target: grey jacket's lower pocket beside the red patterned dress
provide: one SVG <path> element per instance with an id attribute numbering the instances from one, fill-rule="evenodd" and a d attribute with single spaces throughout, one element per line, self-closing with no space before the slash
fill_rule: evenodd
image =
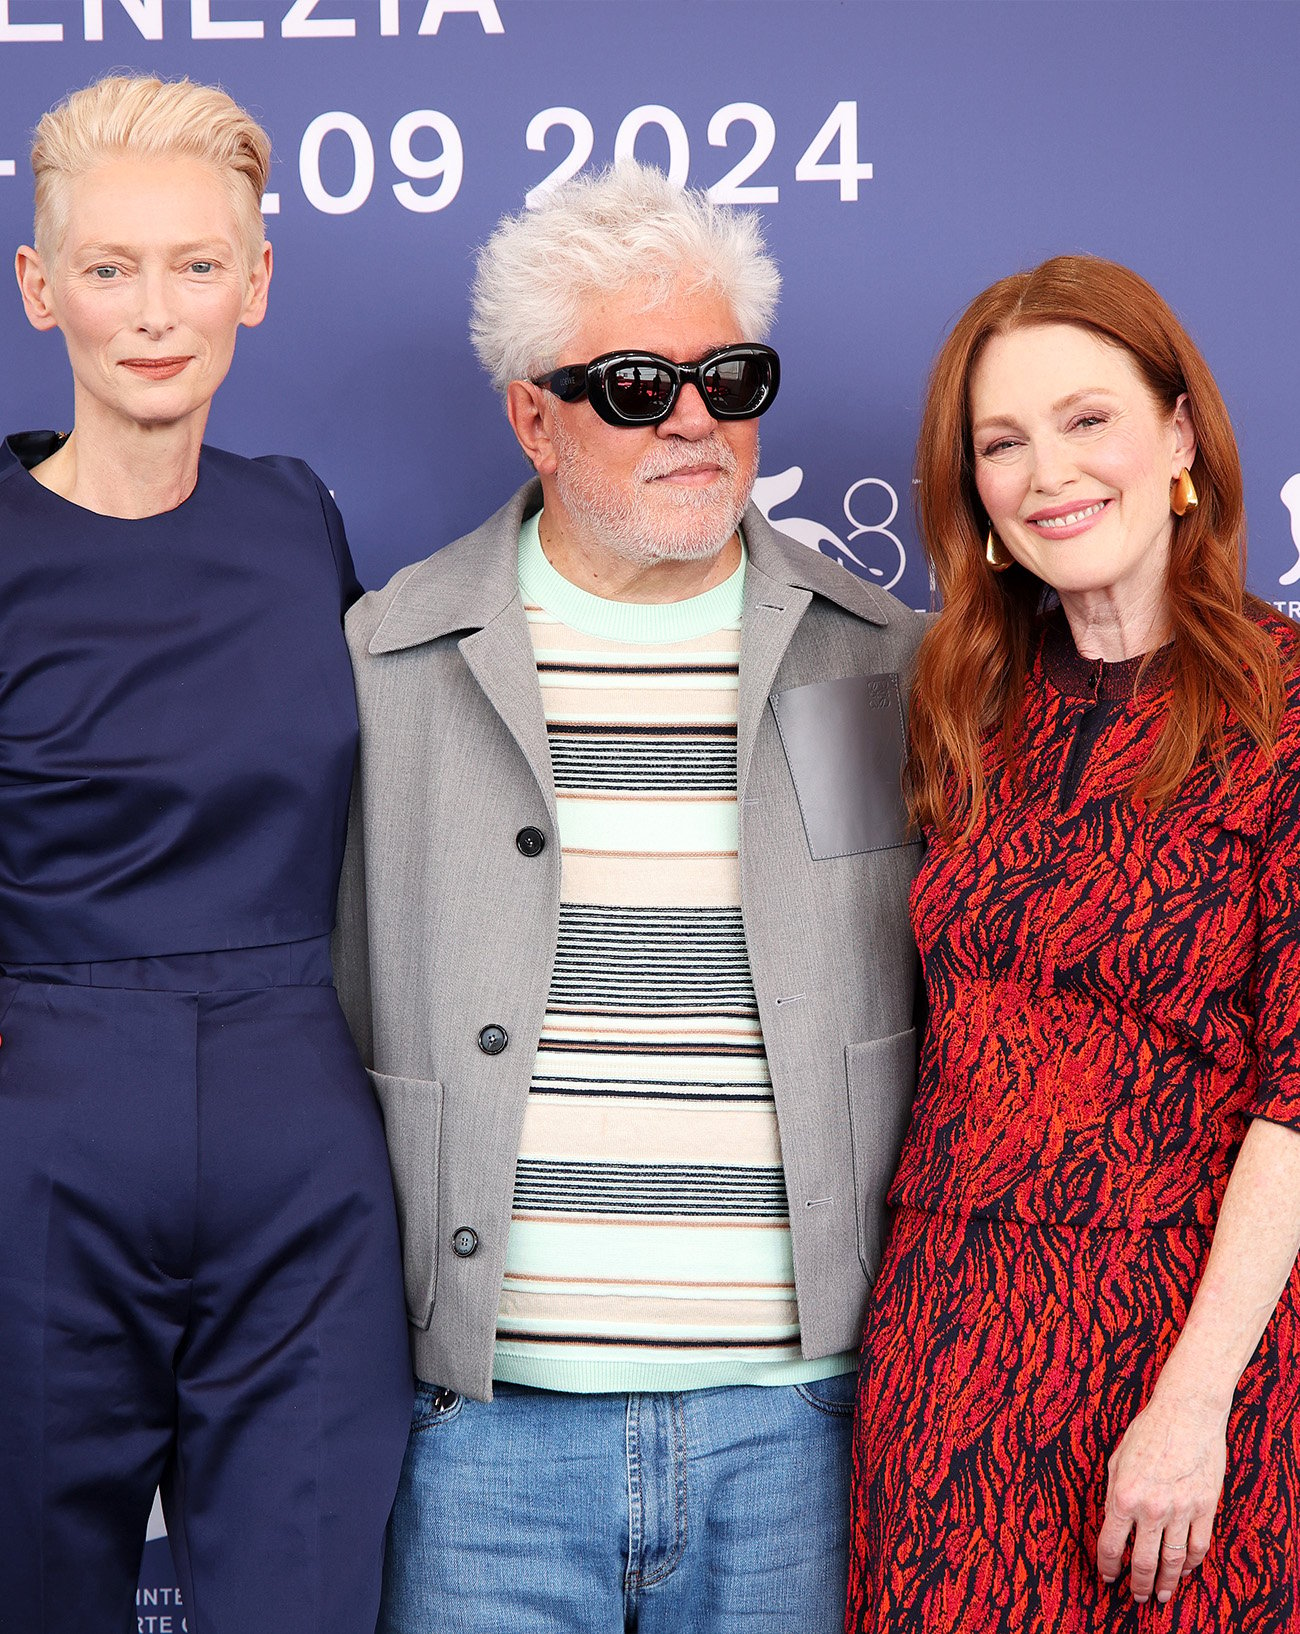
<path id="1" fill-rule="evenodd" d="M 916 1029 L 844 1049 L 857 1206 L 857 1258 L 867 1281 L 880 1270 L 888 1214 L 885 1194 L 898 1167 L 916 1088 Z"/>

